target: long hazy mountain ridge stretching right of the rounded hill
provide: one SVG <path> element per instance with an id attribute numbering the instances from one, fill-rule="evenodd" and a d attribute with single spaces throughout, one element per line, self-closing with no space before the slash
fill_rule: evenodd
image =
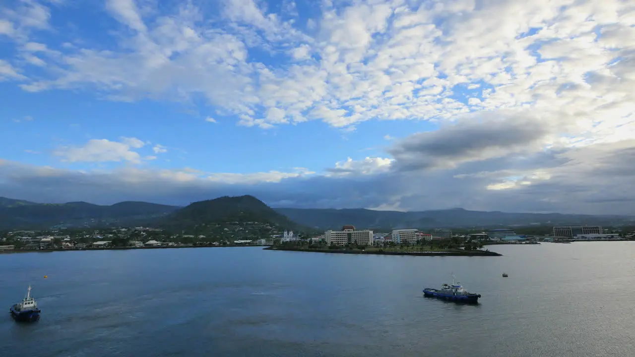
<path id="1" fill-rule="evenodd" d="M 633 222 L 633 217 L 617 215 L 565 215 L 561 213 L 507 213 L 469 211 L 463 208 L 421 212 L 373 211 L 358 209 L 275 208 L 278 213 L 308 227 L 339 229 L 345 224 L 382 229 L 433 227 L 497 227 L 528 225 L 604 225 Z"/>

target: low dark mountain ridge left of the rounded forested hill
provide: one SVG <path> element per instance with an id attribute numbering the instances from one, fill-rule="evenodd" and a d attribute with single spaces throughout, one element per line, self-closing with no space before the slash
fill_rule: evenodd
<path id="1" fill-rule="evenodd" d="M 87 202 L 33 203 L 0 198 L 0 228 L 44 229 L 51 226 L 127 226 L 163 217 L 178 206 L 120 202 L 111 206 Z"/>

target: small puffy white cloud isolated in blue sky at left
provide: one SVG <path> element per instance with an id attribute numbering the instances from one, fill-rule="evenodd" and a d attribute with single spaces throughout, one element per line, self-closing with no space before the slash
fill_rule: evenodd
<path id="1" fill-rule="evenodd" d="M 83 146 L 64 146 L 53 152 L 60 156 L 62 161 L 70 163 L 89 162 L 105 163 L 110 161 L 127 161 L 133 164 L 141 163 L 142 159 L 138 149 L 145 145 L 138 138 L 121 138 L 121 142 L 107 139 L 91 139 Z"/>

